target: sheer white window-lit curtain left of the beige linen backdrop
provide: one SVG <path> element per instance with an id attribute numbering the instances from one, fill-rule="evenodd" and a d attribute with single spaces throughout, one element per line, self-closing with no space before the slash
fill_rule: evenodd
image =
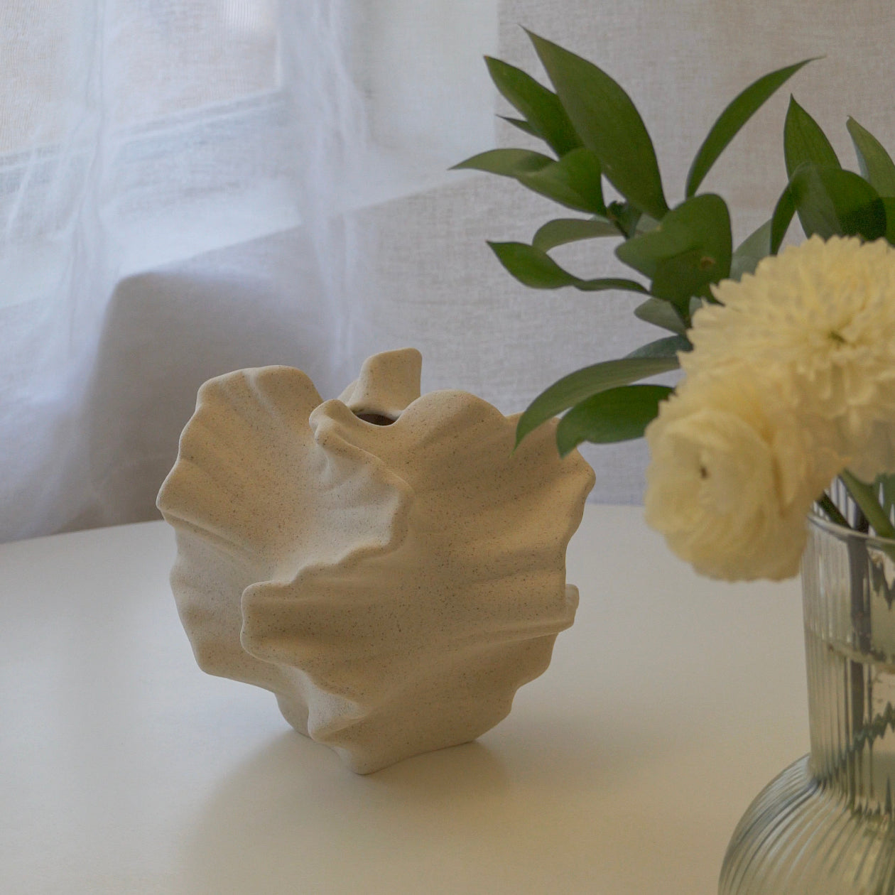
<path id="1" fill-rule="evenodd" d="M 341 390 L 356 211 L 493 141 L 484 73 L 463 88 L 495 48 L 470 0 L 4 4 L 0 540 L 154 516 L 212 375 Z"/>

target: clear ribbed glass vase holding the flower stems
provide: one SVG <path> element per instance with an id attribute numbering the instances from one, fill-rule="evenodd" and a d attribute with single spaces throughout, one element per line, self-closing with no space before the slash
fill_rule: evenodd
<path id="1" fill-rule="evenodd" d="M 811 754 L 755 798 L 720 895 L 895 895 L 895 541 L 809 522 Z"/>

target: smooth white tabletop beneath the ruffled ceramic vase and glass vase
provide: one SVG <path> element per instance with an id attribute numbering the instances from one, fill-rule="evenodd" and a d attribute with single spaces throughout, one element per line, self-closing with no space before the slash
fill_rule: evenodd
<path id="1" fill-rule="evenodd" d="M 698 578 L 639 507 L 587 507 L 507 720 L 367 777 L 196 667 L 173 557 L 160 522 L 0 546 L 4 895 L 712 895 L 807 751 L 797 581 Z"/>

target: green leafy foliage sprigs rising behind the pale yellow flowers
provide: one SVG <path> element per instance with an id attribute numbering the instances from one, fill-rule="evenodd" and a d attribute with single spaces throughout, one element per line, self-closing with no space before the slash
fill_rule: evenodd
<path id="1" fill-rule="evenodd" d="M 715 302 L 712 284 L 738 280 L 762 258 L 776 254 L 794 217 L 806 236 L 884 237 L 895 244 L 895 163 L 873 134 L 848 118 L 858 173 L 845 170 L 821 127 L 790 97 L 783 132 L 787 184 L 771 217 L 734 248 L 727 203 L 699 188 L 743 125 L 814 59 L 763 75 L 724 108 L 696 151 L 684 200 L 671 208 L 652 139 L 626 91 L 595 64 L 528 35 L 552 90 L 514 65 L 493 58 L 486 63 L 497 89 L 521 116 L 505 120 L 543 141 L 551 154 L 490 149 L 455 167 L 512 178 L 587 217 L 558 217 L 542 225 L 531 244 L 492 242 L 490 248 L 525 286 L 640 294 L 644 301 L 635 315 L 671 334 L 626 357 L 572 372 L 533 400 L 519 420 L 516 444 L 542 422 L 565 413 L 557 432 L 565 456 L 584 441 L 643 436 L 671 389 L 644 386 L 640 380 L 678 367 L 678 352 L 691 347 L 686 334 L 693 313 Z M 604 182 L 620 200 L 606 201 Z M 646 282 L 576 277 L 550 257 L 551 250 L 567 243 L 612 237 L 620 240 L 618 260 Z M 877 482 L 876 493 L 880 488 Z M 856 496 L 856 487 L 849 490 Z M 886 493 L 893 490 L 889 485 Z M 895 536 L 891 525 L 877 532 Z"/>

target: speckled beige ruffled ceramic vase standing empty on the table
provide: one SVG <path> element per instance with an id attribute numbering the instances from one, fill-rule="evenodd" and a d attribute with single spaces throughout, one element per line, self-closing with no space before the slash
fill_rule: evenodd
<path id="1" fill-rule="evenodd" d="M 420 396 L 421 364 L 377 354 L 329 401 L 291 367 L 211 379 L 158 495 L 200 667 L 359 773 L 497 724 L 578 601 L 591 468 L 553 425 L 514 451 L 516 417 Z"/>

